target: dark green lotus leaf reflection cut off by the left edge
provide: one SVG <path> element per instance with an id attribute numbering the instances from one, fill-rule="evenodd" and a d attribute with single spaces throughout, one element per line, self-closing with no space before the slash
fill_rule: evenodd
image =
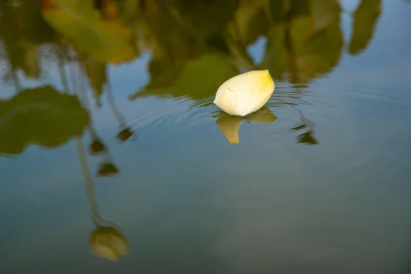
<path id="1" fill-rule="evenodd" d="M 0 153 L 21 153 L 30 143 L 58 147 L 81 136 L 88 122 L 88 112 L 75 95 L 60 94 L 51 86 L 24 90 L 0 101 Z"/>

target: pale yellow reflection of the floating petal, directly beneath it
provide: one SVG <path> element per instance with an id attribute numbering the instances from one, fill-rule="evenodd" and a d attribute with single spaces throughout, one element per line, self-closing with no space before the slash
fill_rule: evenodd
<path id="1" fill-rule="evenodd" d="M 219 126 L 221 132 L 231 144 L 239 144 L 240 125 L 243 121 L 247 123 L 272 123 L 277 117 L 267 107 L 262 107 L 257 112 L 251 113 L 244 118 L 240 116 L 232 116 L 225 112 L 220 112 L 219 119 L 216 124 Z"/>

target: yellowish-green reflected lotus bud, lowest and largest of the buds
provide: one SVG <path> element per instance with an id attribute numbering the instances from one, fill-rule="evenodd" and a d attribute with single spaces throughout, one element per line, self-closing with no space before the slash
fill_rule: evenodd
<path id="1" fill-rule="evenodd" d="M 116 261 L 128 254 L 127 240 L 114 227 L 96 227 L 89 240 L 95 256 Z"/>

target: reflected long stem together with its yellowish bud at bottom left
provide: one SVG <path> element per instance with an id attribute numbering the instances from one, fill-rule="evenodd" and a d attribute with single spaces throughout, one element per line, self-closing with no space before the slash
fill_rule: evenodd
<path id="1" fill-rule="evenodd" d="M 92 221 L 95 224 L 95 228 L 90 232 L 90 249 L 95 256 L 108 260 L 119 260 L 120 256 L 128 254 L 128 242 L 119 227 L 114 223 L 105 221 L 99 214 L 97 201 L 95 199 L 94 183 L 92 182 L 90 170 L 87 166 L 86 155 L 80 139 L 77 139 L 77 151 L 86 182 L 86 192 L 88 200 L 90 201 Z"/>

